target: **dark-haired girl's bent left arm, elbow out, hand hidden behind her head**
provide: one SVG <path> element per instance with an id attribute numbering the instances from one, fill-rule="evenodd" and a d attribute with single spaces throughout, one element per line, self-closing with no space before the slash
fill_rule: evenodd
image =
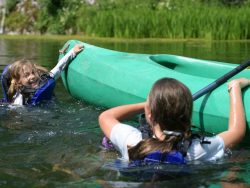
<path id="1" fill-rule="evenodd" d="M 144 106 L 145 102 L 129 104 L 111 108 L 101 113 L 99 116 L 99 125 L 105 136 L 110 138 L 111 130 L 116 124 L 133 115 L 142 113 L 144 111 Z"/>

